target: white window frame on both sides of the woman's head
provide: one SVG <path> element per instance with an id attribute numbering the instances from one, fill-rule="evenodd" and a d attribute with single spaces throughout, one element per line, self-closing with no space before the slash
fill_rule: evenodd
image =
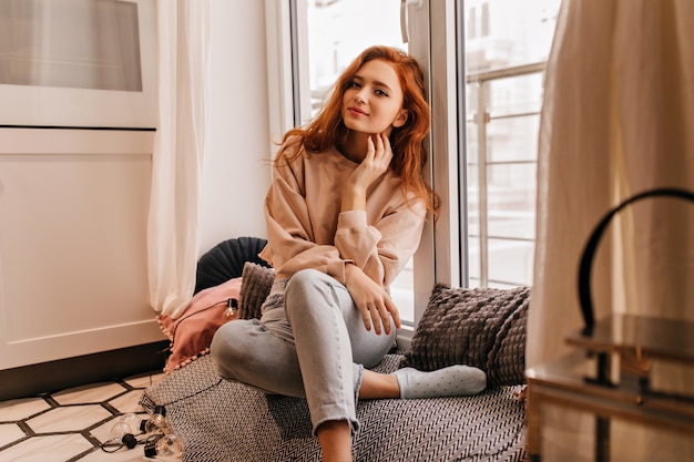
<path id="1" fill-rule="evenodd" d="M 425 69 L 425 81 L 431 106 L 431 132 L 427 140 L 429 162 L 427 181 L 441 197 L 436 223 L 425 226 L 419 249 L 414 256 L 414 326 L 404 326 L 398 345 L 407 349 L 414 329 L 421 319 L 435 284 L 467 285 L 466 236 L 466 162 L 465 162 L 465 88 L 462 57 L 462 10 L 456 0 L 401 0 L 409 53 Z M 267 75 L 271 137 L 278 140 L 297 125 L 295 90 L 306 85 L 296 75 L 307 69 L 296 61 L 298 47 L 305 43 L 306 0 L 265 0 L 267 34 Z M 293 16 L 294 20 L 293 20 Z M 297 28 L 293 30 L 293 25 Z M 460 25 L 458 28 L 458 25 Z M 300 58 L 299 58 L 300 60 Z M 431 79 L 436 75 L 437 79 Z M 296 83 L 296 84 L 295 84 Z M 462 86 L 461 86 L 462 85 Z M 302 91 L 302 86 L 298 86 Z M 305 91 L 305 90 L 304 90 Z M 440 122 L 445 121 L 445 122 Z M 460 129 L 459 129 L 460 127 Z M 277 146 L 272 145 L 273 152 Z"/>

